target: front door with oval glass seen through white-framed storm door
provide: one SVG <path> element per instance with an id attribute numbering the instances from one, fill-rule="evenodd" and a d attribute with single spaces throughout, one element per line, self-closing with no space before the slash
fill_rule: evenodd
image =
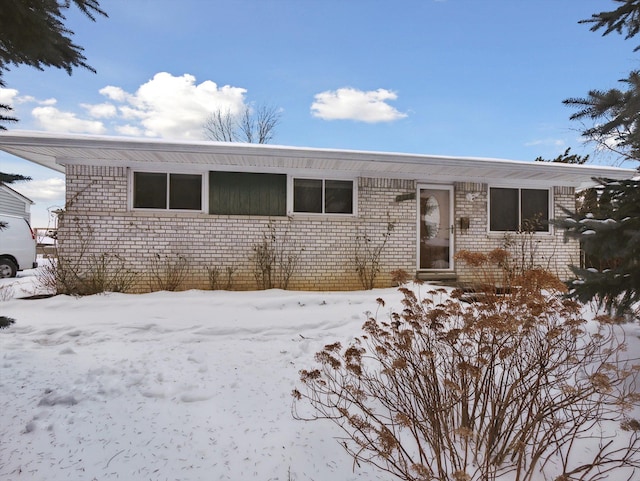
<path id="1" fill-rule="evenodd" d="M 453 269 L 453 188 L 418 187 L 418 269 Z"/>

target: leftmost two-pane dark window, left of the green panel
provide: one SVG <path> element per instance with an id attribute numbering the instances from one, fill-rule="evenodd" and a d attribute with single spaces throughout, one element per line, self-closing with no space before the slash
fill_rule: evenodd
<path id="1" fill-rule="evenodd" d="M 133 173 L 135 209 L 202 210 L 199 174 Z"/>

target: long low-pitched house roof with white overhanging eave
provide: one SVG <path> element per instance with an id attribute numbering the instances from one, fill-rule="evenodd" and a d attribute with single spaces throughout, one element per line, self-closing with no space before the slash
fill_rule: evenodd
<path id="1" fill-rule="evenodd" d="M 598 165 L 28 131 L 0 134 L 0 150 L 59 172 L 73 164 L 153 169 L 171 166 L 185 170 L 195 166 L 243 171 L 304 170 L 428 182 L 518 181 L 576 188 L 594 185 L 593 178 L 625 179 L 637 175 L 633 169 Z"/>

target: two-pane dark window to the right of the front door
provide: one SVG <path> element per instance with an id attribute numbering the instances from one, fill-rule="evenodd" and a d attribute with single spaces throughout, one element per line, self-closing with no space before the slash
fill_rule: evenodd
<path id="1" fill-rule="evenodd" d="M 549 232 L 549 190 L 492 187 L 489 230 Z"/>

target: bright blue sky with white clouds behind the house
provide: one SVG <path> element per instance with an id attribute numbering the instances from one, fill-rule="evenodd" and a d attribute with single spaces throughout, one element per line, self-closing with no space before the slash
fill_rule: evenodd
<path id="1" fill-rule="evenodd" d="M 578 21 L 611 0 L 102 0 L 68 27 L 97 73 L 6 73 L 11 130 L 203 138 L 210 112 L 268 104 L 272 143 L 533 160 L 592 154 L 568 97 L 616 86 L 636 45 Z M 596 161 L 609 159 L 596 156 Z M 36 225 L 62 177 L 31 175 Z M 44 212 L 44 214 L 42 214 Z"/>

